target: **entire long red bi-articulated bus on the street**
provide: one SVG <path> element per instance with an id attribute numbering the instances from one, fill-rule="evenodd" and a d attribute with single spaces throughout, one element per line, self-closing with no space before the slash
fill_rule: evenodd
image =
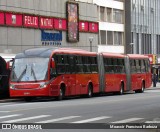
<path id="1" fill-rule="evenodd" d="M 61 100 L 65 96 L 92 97 L 105 92 L 143 92 L 151 86 L 149 67 L 149 59 L 143 55 L 70 48 L 28 49 L 15 56 L 10 96 L 30 101 L 33 97 Z"/>

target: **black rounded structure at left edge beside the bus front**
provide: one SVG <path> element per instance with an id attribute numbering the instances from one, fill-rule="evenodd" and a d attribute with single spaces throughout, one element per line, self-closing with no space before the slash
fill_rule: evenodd
<path id="1" fill-rule="evenodd" d="M 9 74 L 10 69 L 6 61 L 0 56 L 0 98 L 9 97 Z"/>

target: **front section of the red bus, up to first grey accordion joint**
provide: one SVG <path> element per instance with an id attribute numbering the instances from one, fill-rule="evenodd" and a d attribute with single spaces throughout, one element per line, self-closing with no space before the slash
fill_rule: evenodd
<path id="1" fill-rule="evenodd" d="M 97 54 L 84 50 L 35 48 L 16 55 L 10 96 L 56 97 L 99 92 Z"/>

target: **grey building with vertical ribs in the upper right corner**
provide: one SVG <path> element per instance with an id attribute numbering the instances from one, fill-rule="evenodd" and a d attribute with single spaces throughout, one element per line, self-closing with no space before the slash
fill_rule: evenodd
<path id="1" fill-rule="evenodd" d="M 126 0 L 126 52 L 160 53 L 160 0 Z"/>

